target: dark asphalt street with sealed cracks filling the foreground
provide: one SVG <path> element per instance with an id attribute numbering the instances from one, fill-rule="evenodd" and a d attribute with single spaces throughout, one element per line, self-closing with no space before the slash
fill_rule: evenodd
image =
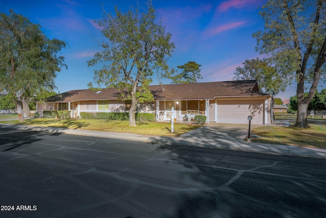
<path id="1" fill-rule="evenodd" d="M 326 160 L 0 128 L 1 217 L 324 217 Z"/>

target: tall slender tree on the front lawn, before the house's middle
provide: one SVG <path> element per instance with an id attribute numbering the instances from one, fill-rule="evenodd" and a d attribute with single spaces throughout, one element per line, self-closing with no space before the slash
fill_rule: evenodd
<path id="1" fill-rule="evenodd" d="M 121 90 L 121 100 L 131 100 L 129 126 L 136 126 L 135 111 L 138 103 L 153 101 L 148 89 L 155 69 L 158 76 L 167 77 L 167 57 L 171 56 L 174 43 L 171 34 L 165 33 L 161 22 L 156 22 L 151 2 L 146 10 L 130 8 L 126 13 L 115 7 L 115 15 L 104 11 L 97 21 L 107 41 L 102 41 L 102 51 L 97 52 L 88 66 L 96 66 L 94 82 Z M 161 69 L 159 73 L 159 69 Z M 93 84 L 89 83 L 92 88 Z"/>

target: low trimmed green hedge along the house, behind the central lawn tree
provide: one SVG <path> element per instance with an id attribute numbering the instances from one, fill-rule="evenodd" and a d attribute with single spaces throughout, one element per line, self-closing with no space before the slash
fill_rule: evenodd
<path id="1" fill-rule="evenodd" d="M 80 112 L 82 119 L 109 119 L 109 120 L 129 120 L 129 113 L 117 112 Z M 155 122 L 154 113 L 135 113 L 137 121 Z"/>

